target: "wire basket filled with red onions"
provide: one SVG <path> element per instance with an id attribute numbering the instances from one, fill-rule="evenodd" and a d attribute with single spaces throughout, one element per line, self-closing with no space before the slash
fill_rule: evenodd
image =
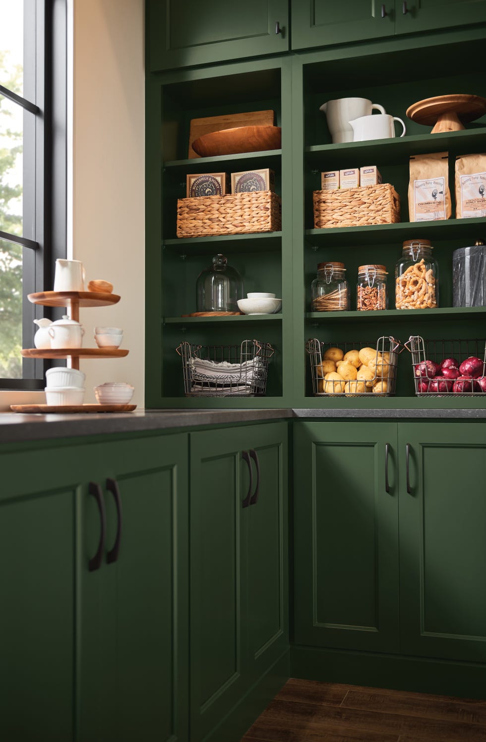
<path id="1" fill-rule="evenodd" d="M 412 335 L 404 347 L 412 354 L 412 372 L 418 397 L 479 397 L 486 392 L 486 341 L 484 340 L 424 340 L 420 335 Z M 467 358 L 482 359 L 479 376 L 467 380 L 438 376 L 430 364 L 436 367 L 446 358 L 455 359 L 457 368 Z M 442 371 L 443 372 L 443 371 Z M 477 372 L 477 371 L 476 371 Z M 459 372 L 460 373 L 460 372 Z"/>

